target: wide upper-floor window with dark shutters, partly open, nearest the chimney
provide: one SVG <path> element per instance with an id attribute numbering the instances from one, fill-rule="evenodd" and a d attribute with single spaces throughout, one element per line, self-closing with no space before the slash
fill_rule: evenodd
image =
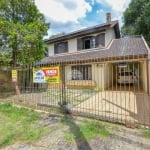
<path id="1" fill-rule="evenodd" d="M 77 39 L 78 50 L 91 49 L 99 46 L 105 46 L 105 33 L 98 34 L 97 36 L 88 36 Z"/>

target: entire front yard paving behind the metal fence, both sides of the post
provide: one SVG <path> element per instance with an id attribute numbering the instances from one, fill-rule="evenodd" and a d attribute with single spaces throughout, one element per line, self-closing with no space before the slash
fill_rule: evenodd
<path id="1" fill-rule="evenodd" d="M 48 110 L 59 107 L 61 92 L 49 90 L 38 93 L 24 93 L 11 99 L 27 106 L 46 106 Z M 10 98 L 9 98 L 10 99 Z M 101 119 L 116 122 L 138 122 L 150 125 L 150 96 L 133 91 L 68 90 L 66 100 L 72 110 L 78 114 L 92 115 Z M 51 106 L 51 107 L 50 107 Z M 44 109 L 43 107 L 37 107 Z"/>

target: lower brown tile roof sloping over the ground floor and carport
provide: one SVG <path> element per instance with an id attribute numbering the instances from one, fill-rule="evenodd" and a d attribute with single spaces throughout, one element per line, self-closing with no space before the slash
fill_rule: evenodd
<path id="1" fill-rule="evenodd" d="M 148 47 L 142 37 L 114 39 L 105 49 L 82 50 L 46 57 L 40 64 L 75 63 L 81 61 L 108 61 L 148 57 Z"/>

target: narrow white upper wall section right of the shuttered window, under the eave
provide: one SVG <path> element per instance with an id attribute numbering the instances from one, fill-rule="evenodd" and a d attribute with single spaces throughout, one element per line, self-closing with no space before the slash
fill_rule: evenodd
<path id="1" fill-rule="evenodd" d="M 115 32 L 113 28 L 106 30 L 105 33 L 105 46 L 107 47 L 108 44 L 111 42 L 112 39 L 115 39 Z"/>

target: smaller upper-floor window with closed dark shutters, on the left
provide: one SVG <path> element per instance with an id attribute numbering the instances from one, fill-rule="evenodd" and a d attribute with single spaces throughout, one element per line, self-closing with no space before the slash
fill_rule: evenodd
<path id="1" fill-rule="evenodd" d="M 68 42 L 61 42 L 54 44 L 54 54 L 68 52 Z"/>

